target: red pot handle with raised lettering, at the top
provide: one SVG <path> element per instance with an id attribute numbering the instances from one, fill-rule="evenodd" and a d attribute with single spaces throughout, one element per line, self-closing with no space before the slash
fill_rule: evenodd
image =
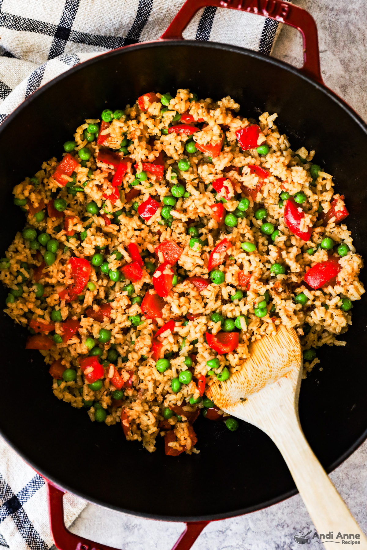
<path id="1" fill-rule="evenodd" d="M 320 72 L 319 41 L 315 20 L 303 8 L 282 0 L 187 0 L 171 25 L 163 32 L 161 40 L 183 40 L 182 32 L 195 13 L 209 5 L 264 15 L 298 29 L 303 38 L 304 63 L 300 70 L 306 76 L 324 84 Z"/>

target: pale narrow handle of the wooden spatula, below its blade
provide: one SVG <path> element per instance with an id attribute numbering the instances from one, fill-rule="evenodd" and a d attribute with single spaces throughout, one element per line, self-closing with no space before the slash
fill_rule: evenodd
<path id="1" fill-rule="evenodd" d="M 359 534 L 358 547 L 367 550 L 367 538 L 311 450 L 294 408 L 278 408 L 276 415 L 267 417 L 266 424 L 262 429 L 282 453 L 319 536 L 330 531 L 335 541 L 339 532 L 342 536 Z"/>

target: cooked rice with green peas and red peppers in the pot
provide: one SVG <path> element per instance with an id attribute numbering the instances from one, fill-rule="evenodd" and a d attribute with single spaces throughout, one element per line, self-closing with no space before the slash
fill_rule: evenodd
<path id="1" fill-rule="evenodd" d="M 198 453 L 192 424 L 199 412 L 227 416 L 202 397 L 203 383 L 240 370 L 249 343 L 275 333 L 281 323 L 299 335 L 305 376 L 319 363 L 315 350 L 321 345 L 346 344 L 337 338 L 352 324 L 352 302 L 365 292 L 358 279 L 363 260 L 340 219 L 344 197 L 334 194 L 332 175 L 321 169 L 315 174 L 315 151 L 292 151 L 275 124 L 276 113 L 263 113 L 256 123 L 239 116 L 239 105 L 230 97 L 198 100 L 189 90 L 178 90 L 168 100 L 165 96 L 165 109 L 160 94 L 142 97 L 148 97 L 145 111 L 139 101 L 110 124 L 102 122 L 102 127 L 100 119 L 87 119 L 76 129 L 68 153 L 75 169 L 65 176 L 66 186 L 58 183 L 59 163 L 53 157 L 14 187 L 28 233 L 18 232 L 0 261 L 0 278 L 9 289 L 4 311 L 30 329 L 28 346 L 50 348 L 40 353 L 50 365 L 58 399 L 86 408 L 91 421 L 121 422 L 126 438 L 141 441 L 149 452 L 160 433 L 166 454 Z M 189 122 L 178 120 L 183 113 L 184 120 L 191 116 Z M 88 134 L 90 125 L 98 124 L 99 143 Z M 176 124 L 189 124 L 190 135 L 169 132 Z M 238 131 L 254 125 L 259 128 L 256 144 L 244 151 Z M 258 150 L 261 145 L 265 150 Z M 216 147 L 218 154 L 211 153 Z M 116 153 L 103 157 L 106 150 L 117 152 L 117 163 Z M 128 164 L 113 199 L 119 157 Z M 150 172 L 145 163 L 158 168 Z M 162 178 L 156 172 L 160 166 Z M 142 171 L 146 179 L 136 178 Z M 223 186 L 216 191 L 220 178 Z M 177 185 L 184 193 L 172 193 Z M 313 227 L 306 241 L 287 226 L 284 193 L 304 195 L 295 207 L 299 231 Z M 50 207 L 60 199 L 64 208 L 53 216 Z M 155 211 L 143 219 L 138 208 L 141 213 L 152 199 Z M 226 223 L 218 221 L 215 205 L 223 205 Z M 260 216 L 261 209 L 265 214 Z M 40 237 L 45 233 L 48 238 Z M 224 239 L 227 254 L 213 251 Z M 320 246 L 324 239 L 331 246 Z M 175 261 L 165 257 L 167 241 L 179 247 Z M 139 277 L 129 271 L 137 257 L 132 244 L 144 260 Z M 345 254 L 339 255 L 341 244 Z M 45 265 L 50 252 L 53 261 Z M 70 295 L 78 281 L 70 258 L 92 264 L 78 296 Z M 310 268 L 330 259 L 337 264 L 337 278 L 321 288 L 306 284 Z M 216 275 L 209 272 L 213 261 L 210 271 Z M 281 268 L 275 273 L 277 265 Z M 168 281 L 167 292 L 162 281 Z M 162 296 L 159 309 L 154 315 L 144 310 L 144 315 L 145 301 L 155 300 L 157 293 Z M 108 315 L 101 316 L 102 310 Z M 169 321 L 176 322 L 165 326 Z M 72 322 L 77 328 L 67 332 Z M 231 338 L 235 334 L 238 344 L 217 353 L 209 340 L 220 338 L 223 328 Z M 161 361 L 156 368 L 164 358 L 165 367 Z M 100 376 L 91 382 L 97 372 Z"/>

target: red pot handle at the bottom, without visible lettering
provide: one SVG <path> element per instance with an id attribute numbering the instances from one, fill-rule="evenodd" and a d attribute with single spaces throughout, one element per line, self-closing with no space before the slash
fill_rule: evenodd
<path id="1" fill-rule="evenodd" d="M 59 550 L 116 550 L 106 544 L 100 544 L 70 533 L 64 523 L 64 491 L 45 479 L 48 489 L 48 507 L 50 509 L 51 534 Z M 188 521 L 186 529 L 180 535 L 172 550 L 189 550 L 209 521 Z"/>

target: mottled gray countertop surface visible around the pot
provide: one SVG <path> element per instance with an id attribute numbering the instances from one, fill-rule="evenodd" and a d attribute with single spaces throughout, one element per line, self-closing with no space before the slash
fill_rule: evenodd
<path id="1" fill-rule="evenodd" d="M 321 72 L 325 84 L 367 121 L 367 2 L 354 0 L 297 0 L 315 18 L 319 29 Z M 302 40 L 295 29 L 283 27 L 274 57 L 300 67 Z M 367 442 L 331 474 L 331 479 L 367 533 Z M 72 531 L 96 542 L 124 550 L 169 550 L 183 524 L 151 521 L 88 504 Z M 297 495 L 266 508 L 209 524 L 193 550 L 281 550 L 299 548 L 293 536 L 313 529 L 302 499 Z"/>

